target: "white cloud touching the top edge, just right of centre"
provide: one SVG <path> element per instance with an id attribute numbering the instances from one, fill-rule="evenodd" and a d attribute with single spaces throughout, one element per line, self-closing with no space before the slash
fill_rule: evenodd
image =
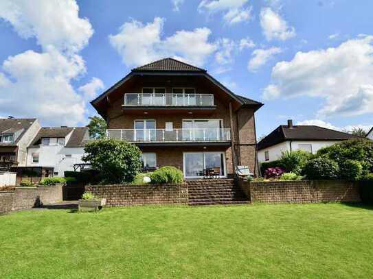
<path id="1" fill-rule="evenodd" d="M 251 6 L 247 6 L 248 0 L 202 0 L 199 3 L 199 12 L 214 14 L 223 12 L 223 20 L 229 24 L 249 21 L 251 18 Z"/>

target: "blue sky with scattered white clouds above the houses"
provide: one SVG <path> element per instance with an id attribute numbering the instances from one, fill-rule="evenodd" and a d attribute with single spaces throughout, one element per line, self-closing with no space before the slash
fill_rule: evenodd
<path id="1" fill-rule="evenodd" d="M 368 0 L 4 0 L 0 116 L 85 125 L 91 99 L 133 67 L 170 56 L 262 101 L 258 136 L 289 118 L 366 129 L 372 10 Z"/>

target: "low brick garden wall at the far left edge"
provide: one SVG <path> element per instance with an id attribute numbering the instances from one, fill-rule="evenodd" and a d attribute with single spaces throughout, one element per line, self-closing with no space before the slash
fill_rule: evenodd
<path id="1" fill-rule="evenodd" d="M 0 191 L 0 214 L 12 210 L 29 209 L 63 200 L 63 186 L 16 187 L 14 191 Z"/>

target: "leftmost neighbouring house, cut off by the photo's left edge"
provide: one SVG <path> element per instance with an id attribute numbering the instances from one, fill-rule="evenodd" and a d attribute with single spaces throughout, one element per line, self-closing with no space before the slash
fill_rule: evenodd
<path id="1" fill-rule="evenodd" d="M 39 129 L 37 119 L 0 119 L 0 167 L 25 166 L 27 146 Z"/>

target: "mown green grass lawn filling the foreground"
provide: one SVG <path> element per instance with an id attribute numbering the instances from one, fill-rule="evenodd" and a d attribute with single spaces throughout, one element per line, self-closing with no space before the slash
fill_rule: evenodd
<path id="1" fill-rule="evenodd" d="M 30 210 L 0 278 L 372 278 L 373 210 L 345 204 Z"/>

